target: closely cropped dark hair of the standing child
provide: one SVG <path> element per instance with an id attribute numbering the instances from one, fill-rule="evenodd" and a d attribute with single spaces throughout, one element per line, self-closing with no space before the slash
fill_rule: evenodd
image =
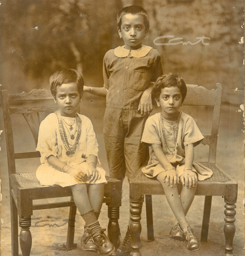
<path id="1" fill-rule="evenodd" d="M 147 33 L 150 28 L 150 22 L 149 22 L 149 15 L 148 12 L 145 11 L 144 8 L 137 6 L 137 5 L 130 5 L 127 7 L 124 7 L 118 14 L 117 14 L 117 27 L 121 29 L 122 25 L 122 16 L 124 14 L 140 14 L 144 17 L 145 22 L 145 32 Z"/>

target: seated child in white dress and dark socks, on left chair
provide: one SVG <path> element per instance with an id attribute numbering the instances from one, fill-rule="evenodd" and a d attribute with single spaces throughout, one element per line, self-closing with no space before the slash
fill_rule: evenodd
<path id="1" fill-rule="evenodd" d="M 59 109 L 40 124 L 36 150 L 41 185 L 70 186 L 74 202 L 86 223 L 83 249 L 110 255 L 114 246 L 100 227 L 105 171 L 98 164 L 98 143 L 91 121 L 76 113 L 83 95 L 83 77 L 75 70 L 57 71 L 50 77 L 51 93 Z"/>

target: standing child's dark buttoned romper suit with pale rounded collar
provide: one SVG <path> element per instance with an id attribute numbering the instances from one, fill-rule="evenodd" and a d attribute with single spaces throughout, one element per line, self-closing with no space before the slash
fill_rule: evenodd
<path id="1" fill-rule="evenodd" d="M 145 161 L 146 146 L 141 137 L 146 116 L 138 111 L 140 98 L 163 74 L 157 50 L 144 46 L 127 50 L 119 46 L 104 56 L 103 76 L 106 95 L 104 116 L 105 148 L 110 176 L 134 177 Z"/>

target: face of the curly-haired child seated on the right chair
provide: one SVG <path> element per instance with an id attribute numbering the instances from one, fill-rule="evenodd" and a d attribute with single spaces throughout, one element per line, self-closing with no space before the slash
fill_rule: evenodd
<path id="1" fill-rule="evenodd" d="M 163 118 L 170 120 L 176 117 L 176 112 L 182 103 L 181 91 L 178 87 L 165 87 L 161 89 L 161 94 L 157 105 L 162 108 Z"/>

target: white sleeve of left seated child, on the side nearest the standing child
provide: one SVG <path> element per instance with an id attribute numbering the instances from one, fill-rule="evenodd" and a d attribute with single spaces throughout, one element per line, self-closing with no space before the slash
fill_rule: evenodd
<path id="1" fill-rule="evenodd" d="M 86 157 L 88 157 L 89 155 L 95 155 L 98 157 L 99 145 L 97 143 L 95 131 L 93 130 L 92 122 L 87 117 L 86 119 L 84 119 L 84 121 L 86 123 L 85 125 L 86 125 L 86 132 L 87 132 Z"/>

